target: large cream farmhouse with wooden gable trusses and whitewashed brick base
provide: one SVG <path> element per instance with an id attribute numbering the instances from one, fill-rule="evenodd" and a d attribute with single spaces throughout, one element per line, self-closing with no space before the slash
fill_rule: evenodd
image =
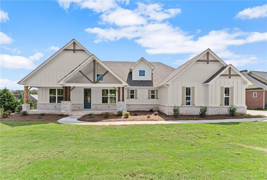
<path id="1" fill-rule="evenodd" d="M 18 84 L 38 88 L 37 110 L 29 113 L 74 111 L 159 110 L 198 114 L 227 114 L 235 105 L 246 114 L 245 87 L 252 83 L 233 65 L 227 65 L 210 49 L 177 69 L 140 58 L 136 62 L 101 61 L 75 39 L 48 58 Z M 39 110 L 39 111 L 38 111 Z M 87 111 L 86 111 L 87 110 Z"/>

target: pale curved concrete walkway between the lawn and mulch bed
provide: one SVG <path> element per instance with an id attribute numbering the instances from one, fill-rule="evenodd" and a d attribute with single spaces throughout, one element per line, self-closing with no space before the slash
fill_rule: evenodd
<path id="1" fill-rule="evenodd" d="M 78 121 L 78 117 L 69 116 L 59 119 L 59 123 L 78 125 L 130 125 L 130 124 L 177 124 L 177 123 L 218 123 L 218 122 L 251 122 L 267 121 L 267 118 L 246 119 L 217 119 L 217 120 L 195 120 L 195 121 L 114 121 L 114 122 L 85 122 Z"/>

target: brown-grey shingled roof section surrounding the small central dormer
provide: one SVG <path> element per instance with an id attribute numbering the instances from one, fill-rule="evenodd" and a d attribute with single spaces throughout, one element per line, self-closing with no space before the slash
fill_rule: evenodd
<path id="1" fill-rule="evenodd" d="M 129 67 L 134 62 L 121 61 L 102 61 L 117 75 L 119 75 L 129 86 L 158 86 L 173 70 L 173 67 L 167 66 L 161 62 L 150 62 L 155 67 L 152 75 L 152 80 L 132 80 L 132 73 L 129 72 Z M 128 67 L 128 68 L 127 68 Z"/>

